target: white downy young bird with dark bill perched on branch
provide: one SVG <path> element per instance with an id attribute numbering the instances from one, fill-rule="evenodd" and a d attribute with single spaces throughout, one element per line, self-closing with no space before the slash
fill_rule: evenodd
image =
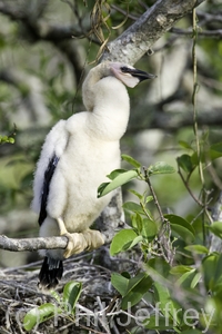
<path id="1" fill-rule="evenodd" d="M 41 250 L 40 288 L 53 288 L 62 277 L 62 259 L 101 246 L 90 225 L 109 204 L 112 193 L 97 197 L 107 175 L 120 168 L 120 138 L 125 132 L 130 102 L 125 86 L 155 76 L 120 62 L 102 62 L 82 86 L 87 111 L 60 120 L 42 147 L 33 181 L 32 208 L 39 214 L 40 236 L 65 235 L 65 250 Z M 125 86 L 124 86 L 125 85 Z"/>

